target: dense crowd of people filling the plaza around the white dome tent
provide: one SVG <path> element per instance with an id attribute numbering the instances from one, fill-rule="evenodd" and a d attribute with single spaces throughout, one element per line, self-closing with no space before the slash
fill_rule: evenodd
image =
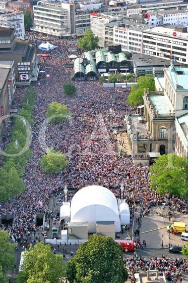
<path id="1" fill-rule="evenodd" d="M 31 33 L 31 40 L 37 45 L 41 39 Z M 135 113 L 127 103 L 130 89 L 122 91 L 103 88 L 98 82 L 75 82 L 77 93 L 66 97 L 63 84 L 70 82 L 71 69 L 64 64 L 69 63 L 69 56 L 82 55 L 73 39 L 50 39 L 50 43 L 57 48 L 49 53 L 48 58 L 40 58 L 40 70 L 48 69 L 50 76 L 41 75 L 40 86 L 35 85 L 37 98 L 34 107 L 34 125 L 32 127 L 33 139 L 31 144 L 32 157 L 29 159 L 22 179 L 26 190 L 14 200 L 9 199 L 1 204 L 0 215 L 13 214 L 14 221 L 8 226 L 10 235 L 23 241 L 35 228 L 36 212 L 48 212 L 48 201 L 55 192 L 63 193 L 67 185 L 69 200 L 74 193 L 87 185 L 101 185 L 111 190 L 116 197 L 120 197 L 120 186 L 124 186 L 124 198 L 131 207 L 142 205 L 143 211 L 161 203 L 172 203 L 176 210 L 186 208 L 187 200 L 173 196 L 159 196 L 151 190 L 149 184 L 149 167 L 143 164 L 134 164 L 130 156 L 122 155 L 116 158 L 115 135 L 110 132 L 109 111 L 113 110 L 112 127 L 122 128 L 123 118 L 126 114 Z M 61 55 L 60 55 L 61 54 Z M 114 90 L 113 90 L 114 91 Z M 17 89 L 14 104 L 19 108 L 25 89 Z M 81 95 L 78 96 L 78 94 Z M 58 124 L 47 123 L 46 109 L 50 102 L 57 101 L 67 105 L 72 113 L 71 120 Z M 42 138 L 42 134 L 45 138 Z M 53 147 L 66 154 L 69 164 L 59 173 L 47 174 L 42 172 L 40 159 L 45 149 Z M 61 198 L 62 200 L 62 198 Z M 135 259 L 134 259 L 135 260 Z M 166 268 L 170 261 L 165 259 L 128 260 L 128 267 L 140 266 L 141 269 L 157 265 Z M 179 263 L 179 260 L 177 260 Z M 187 263 L 182 263 L 180 265 Z"/>

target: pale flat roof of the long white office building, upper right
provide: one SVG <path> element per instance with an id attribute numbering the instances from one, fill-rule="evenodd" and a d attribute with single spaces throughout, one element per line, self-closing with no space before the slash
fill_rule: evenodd
<path id="1" fill-rule="evenodd" d="M 174 32 L 174 26 L 172 28 L 167 28 L 167 27 L 151 27 L 145 30 L 145 32 L 150 33 L 152 35 L 156 34 L 160 36 L 168 36 L 173 38 L 174 40 L 178 39 L 183 39 L 183 40 L 188 40 L 188 32 L 180 32 L 180 31 L 175 31 L 176 36 L 173 36 L 173 32 Z"/>

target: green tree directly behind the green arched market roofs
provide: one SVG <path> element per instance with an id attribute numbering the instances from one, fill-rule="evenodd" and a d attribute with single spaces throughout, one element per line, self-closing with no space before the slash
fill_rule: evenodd
<path id="1" fill-rule="evenodd" d="M 78 46 L 85 51 L 91 51 L 98 48 L 98 42 L 98 36 L 95 36 L 94 33 L 88 29 L 83 38 L 78 40 Z"/>

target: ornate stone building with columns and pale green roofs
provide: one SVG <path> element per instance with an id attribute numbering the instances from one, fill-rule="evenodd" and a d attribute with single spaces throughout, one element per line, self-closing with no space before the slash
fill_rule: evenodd
<path id="1" fill-rule="evenodd" d="M 145 91 L 144 115 L 128 115 L 125 126 L 133 155 L 176 152 L 188 157 L 188 68 L 164 69 L 156 91 Z"/>

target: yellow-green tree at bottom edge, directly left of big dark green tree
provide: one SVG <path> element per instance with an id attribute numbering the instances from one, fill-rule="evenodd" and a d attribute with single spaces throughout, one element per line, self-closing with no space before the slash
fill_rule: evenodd
<path id="1" fill-rule="evenodd" d="M 54 255 L 50 245 L 42 242 L 24 253 L 22 269 L 17 275 L 17 283 L 60 282 L 65 274 L 62 255 Z"/>

